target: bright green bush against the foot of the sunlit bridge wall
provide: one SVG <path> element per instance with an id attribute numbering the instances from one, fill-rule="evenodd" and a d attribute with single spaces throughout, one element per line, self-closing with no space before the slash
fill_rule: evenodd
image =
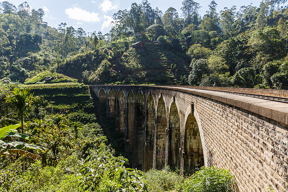
<path id="1" fill-rule="evenodd" d="M 185 180 L 184 185 L 187 192 L 232 192 L 235 180 L 229 170 L 203 166 Z"/>

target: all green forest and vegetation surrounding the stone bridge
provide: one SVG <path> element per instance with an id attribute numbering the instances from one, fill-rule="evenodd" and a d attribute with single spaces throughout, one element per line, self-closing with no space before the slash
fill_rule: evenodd
<path id="1" fill-rule="evenodd" d="M 232 191 L 233 176 L 215 167 L 190 177 L 132 169 L 123 133 L 87 84 L 288 89 L 285 3 L 218 13 L 211 1 L 201 17 L 193 0 L 179 13 L 143 0 L 102 34 L 53 28 L 41 8 L 1 2 L 0 191 Z M 144 52 L 131 47 L 138 41 Z"/>

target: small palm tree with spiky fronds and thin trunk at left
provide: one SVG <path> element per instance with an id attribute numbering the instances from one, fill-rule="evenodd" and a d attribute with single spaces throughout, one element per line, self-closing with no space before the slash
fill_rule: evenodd
<path id="1" fill-rule="evenodd" d="M 23 115 L 27 108 L 30 108 L 32 104 L 40 102 L 39 96 L 33 96 L 34 93 L 29 93 L 31 89 L 14 88 L 12 95 L 7 95 L 5 98 L 6 103 L 12 103 L 21 116 L 21 133 L 23 134 Z"/>

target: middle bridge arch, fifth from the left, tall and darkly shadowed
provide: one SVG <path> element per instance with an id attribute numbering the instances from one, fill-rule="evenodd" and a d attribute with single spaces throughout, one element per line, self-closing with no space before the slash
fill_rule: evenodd
<path id="1" fill-rule="evenodd" d="M 141 92 L 139 92 L 136 101 L 136 118 L 135 118 L 135 150 L 133 156 L 135 158 L 135 168 L 142 169 L 143 147 L 144 147 L 144 120 L 145 120 L 145 102 Z M 137 153 L 136 153 L 137 151 Z"/>

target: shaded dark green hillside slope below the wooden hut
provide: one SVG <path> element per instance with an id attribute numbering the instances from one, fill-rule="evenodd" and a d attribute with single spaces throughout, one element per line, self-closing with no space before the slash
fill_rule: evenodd
<path id="1" fill-rule="evenodd" d="M 139 52 L 136 55 L 131 55 L 131 50 L 128 50 L 123 55 L 125 56 L 125 54 L 128 54 L 127 59 L 123 58 L 122 56 L 122 58 L 120 58 L 120 62 L 112 62 L 114 65 L 111 69 L 114 73 L 116 73 L 116 76 L 120 82 L 129 83 L 127 79 L 131 78 L 134 80 L 134 84 L 154 83 L 158 85 L 171 85 L 175 83 L 174 76 L 176 69 L 178 80 L 180 75 L 189 74 L 189 63 L 185 61 L 185 58 L 182 58 L 180 55 L 176 55 L 169 50 L 160 47 L 160 45 L 146 43 L 145 46 L 145 52 Z M 123 65 L 126 65 L 127 68 L 129 65 L 131 65 L 131 63 L 133 63 L 133 60 L 139 67 L 132 70 L 124 69 L 123 71 Z M 171 69 L 171 64 L 175 64 L 176 69 Z"/>

